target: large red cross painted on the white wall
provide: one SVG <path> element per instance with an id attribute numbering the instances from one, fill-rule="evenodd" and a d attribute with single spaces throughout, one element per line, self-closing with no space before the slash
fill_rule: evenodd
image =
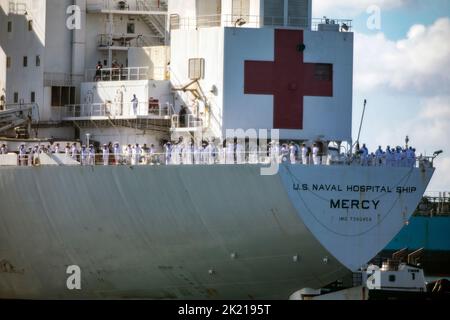
<path id="1" fill-rule="evenodd" d="M 303 97 L 333 96 L 333 66 L 304 63 L 302 44 L 302 30 L 275 30 L 275 61 L 245 61 L 244 93 L 274 96 L 276 129 L 303 129 Z"/>

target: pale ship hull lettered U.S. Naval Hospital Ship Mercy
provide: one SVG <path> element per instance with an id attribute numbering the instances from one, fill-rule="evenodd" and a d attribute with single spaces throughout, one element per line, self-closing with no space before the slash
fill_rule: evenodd
<path id="1" fill-rule="evenodd" d="M 260 169 L 0 168 L 0 298 L 287 299 L 339 279 L 381 251 L 434 171 L 283 165 L 277 175 L 263 176 Z M 348 185 L 395 187 L 405 174 L 401 183 L 415 186 L 413 193 L 392 192 L 365 211 L 336 207 L 356 195 Z M 329 190 L 312 190 L 320 185 Z M 389 204 L 388 213 L 380 211 Z M 343 212 L 378 219 L 336 225 Z M 67 287 L 72 265 L 81 269 L 81 290 Z"/>

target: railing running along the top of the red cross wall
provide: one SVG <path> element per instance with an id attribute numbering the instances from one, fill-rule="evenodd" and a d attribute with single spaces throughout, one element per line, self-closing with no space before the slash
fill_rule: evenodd
<path id="1" fill-rule="evenodd" d="M 197 17 L 180 17 L 171 15 L 171 29 L 196 29 L 202 27 L 294 27 L 300 29 L 320 30 L 321 25 L 336 26 L 339 31 L 351 31 L 352 20 L 350 19 L 329 19 L 308 17 L 283 17 L 283 16 L 264 16 L 259 15 L 200 15 Z"/>

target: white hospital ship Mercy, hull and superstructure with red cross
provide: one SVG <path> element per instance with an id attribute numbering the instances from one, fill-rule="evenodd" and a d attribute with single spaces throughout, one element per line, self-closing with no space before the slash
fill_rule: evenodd
<path id="1" fill-rule="evenodd" d="M 0 298 L 287 299 L 373 258 L 433 175 L 339 156 L 351 21 L 311 1 L 0 3 L 0 130 L 32 138 L 1 143 Z"/>

